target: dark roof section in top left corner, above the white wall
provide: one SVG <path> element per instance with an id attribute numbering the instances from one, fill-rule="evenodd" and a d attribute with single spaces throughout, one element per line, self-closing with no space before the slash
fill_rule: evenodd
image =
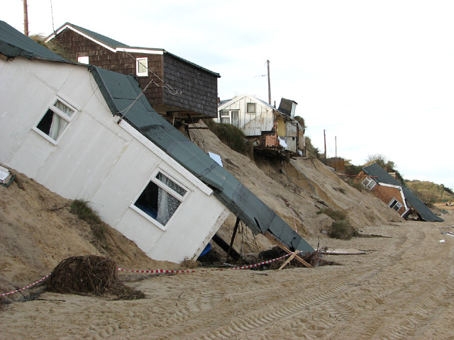
<path id="1" fill-rule="evenodd" d="M 26 57 L 28 59 L 67 62 L 65 58 L 28 38 L 4 21 L 0 21 L 0 53 L 9 58 Z"/>

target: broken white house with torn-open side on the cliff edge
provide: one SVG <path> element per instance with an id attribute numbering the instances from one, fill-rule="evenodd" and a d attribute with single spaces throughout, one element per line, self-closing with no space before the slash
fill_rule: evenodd
<path id="1" fill-rule="evenodd" d="M 294 118 L 297 102 L 282 98 L 275 108 L 250 94 L 218 103 L 216 123 L 231 124 L 244 132 L 256 148 L 304 150 L 304 128 Z"/>

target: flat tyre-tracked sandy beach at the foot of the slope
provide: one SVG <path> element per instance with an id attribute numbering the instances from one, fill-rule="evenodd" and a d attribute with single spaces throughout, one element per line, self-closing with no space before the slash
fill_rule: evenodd
<path id="1" fill-rule="evenodd" d="M 146 295 L 133 301 L 41 293 L 2 307 L 0 337 L 453 339 L 454 237 L 439 230 L 453 217 L 362 229 L 387 237 L 322 238 L 321 246 L 366 251 L 325 256 L 341 266 L 120 273 Z"/>

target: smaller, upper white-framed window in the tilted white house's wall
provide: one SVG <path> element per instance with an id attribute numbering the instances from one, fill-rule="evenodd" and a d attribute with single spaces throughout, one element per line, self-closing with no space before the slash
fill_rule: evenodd
<path id="1" fill-rule="evenodd" d="M 77 110 L 70 106 L 70 104 L 58 98 L 48 108 L 48 111 L 46 111 L 43 118 L 40 119 L 33 130 L 45 137 L 46 140 L 52 142 L 52 144 L 57 144 L 57 140 L 74 119 L 76 112 Z"/>

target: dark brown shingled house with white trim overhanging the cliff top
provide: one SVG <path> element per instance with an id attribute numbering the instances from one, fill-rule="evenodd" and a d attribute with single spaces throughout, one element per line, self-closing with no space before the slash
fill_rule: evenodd
<path id="1" fill-rule="evenodd" d="M 216 117 L 218 73 L 166 50 L 131 47 L 72 23 L 49 40 L 57 40 L 78 62 L 135 75 L 148 102 L 167 120 Z"/>

